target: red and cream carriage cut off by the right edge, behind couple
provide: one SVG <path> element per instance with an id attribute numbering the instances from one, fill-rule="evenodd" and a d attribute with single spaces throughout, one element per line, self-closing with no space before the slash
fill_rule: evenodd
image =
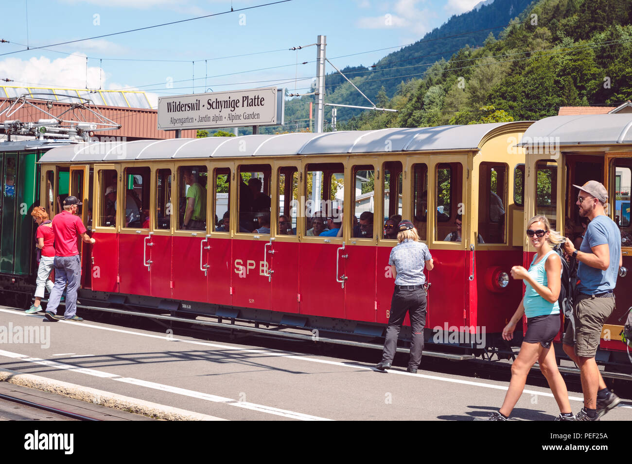
<path id="1" fill-rule="evenodd" d="M 527 129 L 520 145 L 527 151 L 525 218 L 546 215 L 552 227 L 576 238 L 583 228 L 575 205 L 579 192 L 573 184 L 596 180 L 608 189 L 605 211 L 621 230 L 623 268 L 614 290 L 616 309 L 605 321 L 596 359 L 630 373 L 621 333 L 624 315 L 632 306 L 630 277 L 626 276 L 632 267 L 632 114 L 547 117 Z M 531 262 L 533 253 L 525 241 L 525 263 Z"/>

